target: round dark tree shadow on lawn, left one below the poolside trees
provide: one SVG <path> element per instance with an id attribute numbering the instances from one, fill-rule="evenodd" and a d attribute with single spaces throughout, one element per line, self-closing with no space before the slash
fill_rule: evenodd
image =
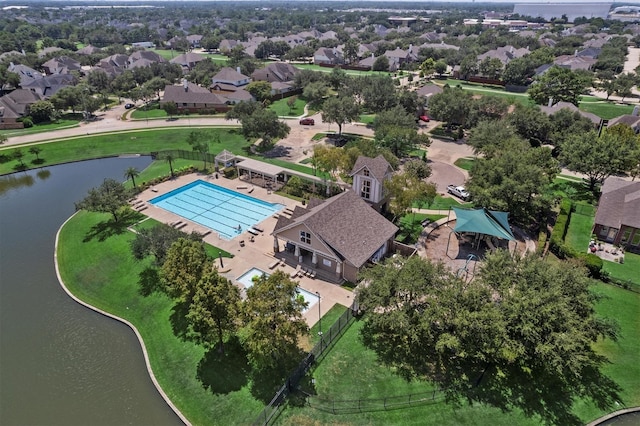
<path id="1" fill-rule="evenodd" d="M 224 353 L 217 346 L 205 353 L 196 377 L 212 393 L 226 394 L 242 389 L 249 382 L 250 370 L 246 352 L 238 338 L 232 337 L 225 343 Z"/>

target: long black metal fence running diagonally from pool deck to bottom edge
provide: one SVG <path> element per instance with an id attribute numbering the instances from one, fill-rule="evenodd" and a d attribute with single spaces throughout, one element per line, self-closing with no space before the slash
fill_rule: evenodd
<path id="1" fill-rule="evenodd" d="M 262 410 L 258 418 L 253 422 L 254 425 L 268 425 L 273 419 L 276 418 L 284 406 L 284 402 L 287 396 L 298 387 L 298 384 L 302 378 L 307 374 L 309 369 L 315 362 L 320 361 L 326 356 L 329 349 L 333 347 L 335 341 L 344 334 L 344 331 L 353 322 L 354 312 L 357 311 L 355 304 L 351 305 L 349 309 L 343 313 L 340 318 L 333 323 L 333 325 L 322 334 L 320 341 L 311 349 L 307 356 L 302 360 L 298 367 L 291 373 L 286 382 L 276 392 L 271 402 Z"/>

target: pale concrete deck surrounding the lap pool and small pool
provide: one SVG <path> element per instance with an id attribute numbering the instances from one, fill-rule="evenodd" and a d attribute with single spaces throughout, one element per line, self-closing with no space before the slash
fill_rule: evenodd
<path id="1" fill-rule="evenodd" d="M 136 205 L 146 207 L 143 211 L 141 211 L 141 213 L 157 220 L 158 222 L 171 224 L 177 221 L 181 221 L 186 224 L 185 226 L 180 228 L 182 231 L 186 233 L 189 233 L 191 231 L 198 231 L 204 234 L 210 230 L 202 225 L 191 222 L 181 216 L 168 212 L 160 207 L 156 207 L 153 204 L 149 203 L 149 200 L 159 195 L 166 194 L 169 191 L 180 188 L 184 185 L 188 185 L 191 182 L 199 179 L 228 189 L 232 189 L 243 194 L 250 195 L 252 197 L 270 203 L 282 204 L 284 206 L 283 209 L 293 209 L 295 206 L 302 206 L 301 203 L 295 200 L 271 193 L 270 191 L 267 191 L 266 188 L 252 186 L 251 184 L 247 184 L 246 182 L 240 181 L 238 179 L 226 179 L 222 176 L 219 176 L 218 179 L 215 179 L 212 175 L 203 175 L 199 173 L 180 176 L 141 192 L 136 197 L 135 202 L 138 203 Z M 205 242 L 226 250 L 234 255 L 232 259 L 226 257 L 222 258 L 223 267 L 220 266 L 220 261 L 218 259 L 215 260 L 216 266 L 218 266 L 220 273 L 235 283 L 237 283 L 237 277 L 244 274 L 246 271 L 253 267 L 260 268 L 268 273 L 273 273 L 278 269 L 283 269 L 285 273 L 287 273 L 287 275 L 291 275 L 295 271 L 295 269 L 288 265 L 279 264 L 279 266 L 277 266 L 276 268 L 269 268 L 270 265 L 279 260 L 274 256 L 273 236 L 271 236 L 271 232 L 275 227 L 276 221 L 277 219 L 275 217 L 268 217 L 262 222 L 256 224 L 264 232 L 260 232 L 257 235 L 252 235 L 248 231 L 245 231 L 232 240 L 224 240 L 220 238 L 215 231 L 209 232 L 204 237 Z M 251 237 L 253 237 L 253 241 Z M 244 241 L 244 246 L 241 246 L 240 241 Z M 336 303 L 339 303 L 343 306 L 350 306 L 353 302 L 354 295 L 351 291 L 345 290 L 339 285 L 323 281 L 318 277 L 297 277 L 295 278 L 295 281 L 298 281 L 298 285 L 301 288 L 311 293 L 320 293 L 320 313 L 322 315 L 327 313 Z M 238 285 L 242 287 L 241 284 Z M 309 326 L 314 325 L 316 322 L 318 322 L 318 309 L 314 306 L 312 309 L 309 309 L 307 312 L 305 312 L 304 317 Z"/>

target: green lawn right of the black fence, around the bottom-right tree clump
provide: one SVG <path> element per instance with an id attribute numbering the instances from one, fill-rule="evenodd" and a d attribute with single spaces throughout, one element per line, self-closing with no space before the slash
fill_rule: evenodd
<path id="1" fill-rule="evenodd" d="M 622 387 L 621 396 L 627 407 L 640 404 L 640 295 L 629 291 L 595 283 L 593 291 L 605 296 L 597 307 L 603 317 L 615 318 L 620 323 L 620 339 L 606 340 L 596 345 L 597 350 L 611 361 L 603 371 Z M 526 418 L 519 411 L 501 412 L 486 405 L 463 404 L 454 407 L 436 397 L 424 405 L 407 406 L 402 409 L 358 412 L 358 399 L 406 396 L 432 390 L 427 382 L 407 382 L 390 369 L 378 364 L 376 355 L 360 340 L 363 322 L 355 322 L 337 342 L 336 346 L 313 371 L 315 389 L 307 388 L 310 394 L 308 405 L 289 405 L 279 419 L 283 425 L 340 424 L 340 425 L 538 425 L 537 419 Z M 406 398 L 405 398 L 406 400 Z M 335 407 L 351 407 L 353 414 L 331 413 Z M 351 402 L 345 402 L 351 401 Z M 315 408 L 314 408 L 315 407 Z M 322 407 L 322 409 L 321 409 Z M 622 407 L 620 407 L 622 408 Z M 585 423 L 605 414 L 586 401 L 576 401 L 573 409 Z M 611 410 L 614 411 L 614 410 Z"/>

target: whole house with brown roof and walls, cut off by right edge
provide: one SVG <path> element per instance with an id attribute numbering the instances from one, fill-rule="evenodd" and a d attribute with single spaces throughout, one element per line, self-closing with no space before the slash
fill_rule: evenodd
<path id="1" fill-rule="evenodd" d="M 602 185 L 593 233 L 640 253 L 640 182 L 610 177 Z"/>

